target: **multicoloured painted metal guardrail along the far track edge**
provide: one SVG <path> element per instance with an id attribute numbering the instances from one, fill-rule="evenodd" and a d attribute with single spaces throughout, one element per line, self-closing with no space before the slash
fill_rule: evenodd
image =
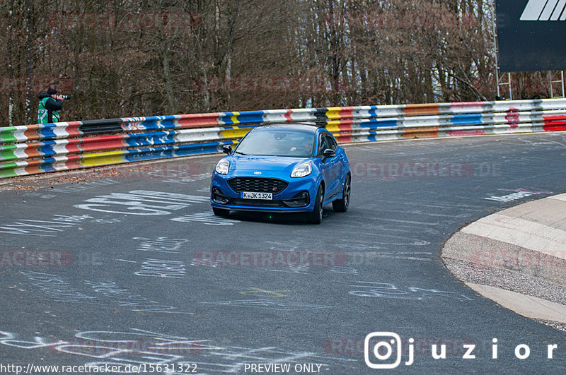
<path id="1" fill-rule="evenodd" d="M 340 143 L 566 130 L 566 99 L 175 114 L 0 128 L 0 178 L 216 153 L 251 128 L 325 126 Z"/>

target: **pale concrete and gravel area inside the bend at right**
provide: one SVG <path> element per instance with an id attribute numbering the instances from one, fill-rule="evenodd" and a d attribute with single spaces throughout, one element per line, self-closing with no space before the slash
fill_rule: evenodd
<path id="1" fill-rule="evenodd" d="M 451 273 L 484 297 L 566 331 L 565 208 L 566 194 L 561 194 L 487 216 L 446 241 L 441 258 Z M 499 298 L 495 290 L 514 302 Z M 554 314 L 539 314 L 541 305 L 530 297 L 551 302 Z M 530 312 L 519 308 L 526 305 Z"/>

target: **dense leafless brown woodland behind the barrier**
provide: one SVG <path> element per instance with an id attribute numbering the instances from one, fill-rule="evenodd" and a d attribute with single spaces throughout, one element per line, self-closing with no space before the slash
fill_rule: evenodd
<path id="1" fill-rule="evenodd" d="M 0 4 L 0 126 L 62 118 L 490 100 L 487 0 L 11 0 Z M 515 74 L 514 97 L 548 97 Z"/>

